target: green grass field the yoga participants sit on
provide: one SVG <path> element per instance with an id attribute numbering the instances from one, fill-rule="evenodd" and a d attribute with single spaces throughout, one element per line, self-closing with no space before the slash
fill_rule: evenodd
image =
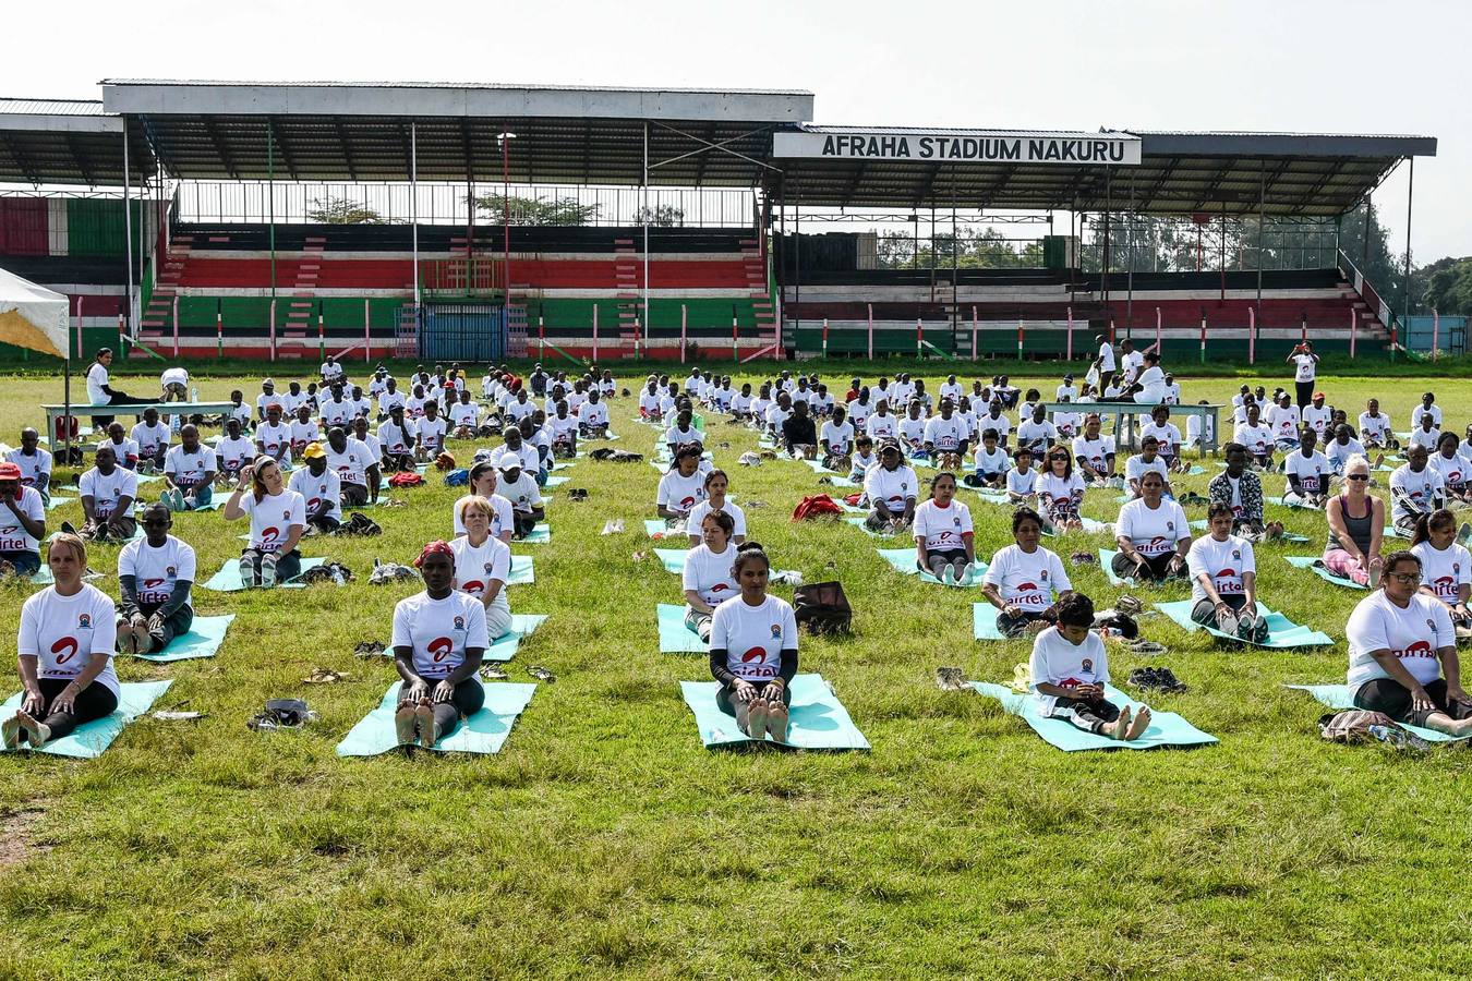
<path id="1" fill-rule="evenodd" d="M 932 390 L 941 377 L 930 369 Z M 259 378 L 199 384 L 205 397 L 238 385 L 253 399 Z M 1269 388 L 1288 379 L 1281 366 L 1263 375 Z M 119 384 L 144 390 L 143 379 Z M 1014 384 L 1051 393 L 1055 381 Z M 1183 379 L 1189 400 L 1225 400 L 1236 384 Z M 1322 387 L 1351 418 L 1379 397 L 1404 429 L 1419 393 L 1437 385 Z M 1472 393 L 1440 388 L 1460 429 Z M 38 425 L 38 403 L 60 400 L 60 381 L 4 379 L 0 396 L 0 438 L 13 444 L 21 425 Z M 618 446 L 648 452 L 654 431 L 630 421 L 630 403 L 614 404 Z M 396 677 L 387 662 L 356 660 L 353 644 L 386 640 L 394 602 L 418 590 L 368 585 L 372 559 L 408 560 L 450 531 L 459 490 L 431 475 L 399 494 L 408 507 L 374 513 L 381 538 L 308 541 L 305 554 L 358 572 L 350 585 L 200 591 L 197 612 L 238 615 L 218 657 L 119 660 L 125 681 L 174 678 L 165 703 L 188 700 L 209 718 L 138 721 L 90 762 L 0 756 L 0 977 L 1472 972 L 1472 756 L 1329 746 L 1316 728 L 1322 707 L 1281 687 L 1344 678 L 1344 622 L 1362 594 L 1282 560 L 1322 549 L 1322 518 L 1284 512 L 1314 544 L 1262 546 L 1259 582 L 1269 604 L 1338 647 L 1219 650 L 1153 618 L 1147 634 L 1170 653 L 1111 652 L 1116 684 L 1135 666 L 1172 668 L 1191 690 L 1150 702 L 1220 744 L 1066 755 L 995 702 L 936 688 L 939 665 L 1007 681 L 1027 659 L 1026 643 L 972 640 L 979 591 L 892 572 L 857 528 L 790 522 L 799 497 L 818 490 L 814 474 L 786 462 L 737 468 L 755 434 L 724 422 L 708 431 L 732 444 L 717 462 L 733 494 L 768 504 L 748 516 L 777 566 L 843 581 L 855 634 L 804 637 L 802 669 L 833 684 L 871 752 L 701 746 L 679 681 L 708 678 L 705 659 L 657 653 L 654 607 L 680 594 L 640 531 L 658 475 L 581 460 L 568 487 L 589 488 L 589 500 L 558 493 L 552 541 L 514 549 L 534 556 L 537 581 L 512 587 L 512 609 L 551 619 L 508 669 L 527 681 L 540 663 L 558 681 L 537 688 L 505 749 L 339 759 L 337 741 Z M 1207 479 L 1185 485 L 1204 491 Z M 1263 482 L 1281 493 L 1281 478 Z M 147 485 L 144 497 L 156 496 Z M 1113 497 L 1091 491 L 1086 513 L 1113 519 Z M 979 554 L 1010 543 L 1004 509 L 963 500 Z M 49 519 L 79 515 L 69 504 Z M 601 537 L 606 518 L 629 531 Z M 219 513 L 175 519 L 202 571 L 237 554 L 243 529 Z M 1101 544 L 1073 535 L 1054 547 L 1067 556 Z M 649 557 L 636 562 L 636 552 Z M 115 572 L 115 560 L 116 549 L 99 547 L 91 563 Z M 1097 566 L 1070 575 L 1100 604 L 1117 594 Z M 99 585 L 115 594 L 116 577 Z M 0 637 L 15 635 L 29 588 L 6 587 Z M 350 679 L 300 684 L 318 666 Z M 0 688 L 18 685 L 13 657 L 0 657 Z M 249 731 L 246 719 L 281 696 L 305 696 L 321 718 L 302 732 Z"/>

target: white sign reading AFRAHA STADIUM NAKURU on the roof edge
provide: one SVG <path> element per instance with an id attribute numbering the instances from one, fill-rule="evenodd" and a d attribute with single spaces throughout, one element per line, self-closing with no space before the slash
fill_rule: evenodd
<path id="1" fill-rule="evenodd" d="M 916 160 L 921 163 L 1139 163 L 1139 137 L 1120 132 L 1002 132 L 846 129 L 773 134 L 773 156 L 818 160 Z"/>

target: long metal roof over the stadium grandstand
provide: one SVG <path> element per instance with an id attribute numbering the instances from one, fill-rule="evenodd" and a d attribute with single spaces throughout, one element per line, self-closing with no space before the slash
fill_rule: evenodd
<path id="1" fill-rule="evenodd" d="M 1242 215 L 1262 191 L 1270 215 L 1328 216 L 1437 151 L 1431 137 L 1101 129 L 1010 135 L 1108 140 L 1128 163 L 779 156 L 793 137 L 1008 135 L 811 116 L 805 91 L 107 79 L 102 103 L 0 100 L 0 181 L 121 184 L 127 119 L 134 179 L 158 160 L 180 179 L 403 181 L 417 156 L 420 179 L 486 182 L 509 131 L 517 184 L 637 185 L 648 154 L 651 184 L 761 185 L 805 206 Z"/>

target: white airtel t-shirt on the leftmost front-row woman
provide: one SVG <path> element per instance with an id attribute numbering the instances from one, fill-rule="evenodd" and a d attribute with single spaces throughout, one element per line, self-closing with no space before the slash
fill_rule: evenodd
<path id="1" fill-rule="evenodd" d="M 99 365 L 100 368 L 100 365 Z M 21 632 L 16 653 L 37 657 L 37 675 L 71 681 L 96 654 L 107 656 L 107 666 L 96 684 L 119 693 L 112 654 L 118 644 L 118 610 L 96 585 L 82 584 L 75 596 L 60 596 L 47 587 L 21 607 Z"/>

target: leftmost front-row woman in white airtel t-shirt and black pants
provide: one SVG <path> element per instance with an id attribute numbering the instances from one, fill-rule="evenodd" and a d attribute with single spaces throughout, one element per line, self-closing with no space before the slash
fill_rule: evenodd
<path id="1" fill-rule="evenodd" d="M 87 546 L 62 532 L 46 560 L 54 584 L 21 607 L 16 659 L 25 694 L 21 710 L 0 722 L 6 749 L 41 749 L 118 707 L 116 622 L 112 600 L 82 581 Z"/>

